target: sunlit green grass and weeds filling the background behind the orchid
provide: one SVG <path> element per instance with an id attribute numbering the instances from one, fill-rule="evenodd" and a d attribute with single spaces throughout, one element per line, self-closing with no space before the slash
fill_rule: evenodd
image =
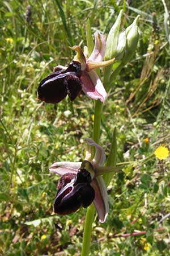
<path id="1" fill-rule="evenodd" d="M 94 32 L 107 35 L 121 9 L 125 27 L 141 14 L 141 38 L 109 92 L 100 144 L 108 153 L 116 125 L 118 163 L 128 163 L 109 185 L 109 216 L 105 224 L 96 218 L 90 255 L 169 255 L 169 158 L 160 161 L 154 155 L 170 137 L 169 28 L 163 3 L 0 1 L 1 255 L 80 254 L 86 209 L 52 214 L 58 176 L 50 175 L 48 166 L 84 158 L 93 102 L 81 94 L 73 103 L 66 98 L 48 105 L 37 101 L 36 89 L 55 65 L 70 63 L 69 46 L 86 45 L 88 18 Z"/>

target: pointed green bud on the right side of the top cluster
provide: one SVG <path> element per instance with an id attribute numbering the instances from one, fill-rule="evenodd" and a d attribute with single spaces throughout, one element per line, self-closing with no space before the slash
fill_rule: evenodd
<path id="1" fill-rule="evenodd" d="M 137 48 L 138 39 L 139 39 L 139 28 L 138 28 L 138 21 L 139 16 L 135 18 L 134 22 L 126 28 L 126 53 L 124 59 L 122 60 L 122 64 L 128 63 L 128 61 L 133 56 L 135 49 Z"/>

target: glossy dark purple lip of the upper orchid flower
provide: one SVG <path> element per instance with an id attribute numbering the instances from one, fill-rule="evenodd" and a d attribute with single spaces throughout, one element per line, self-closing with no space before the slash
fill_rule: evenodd
<path id="1" fill-rule="evenodd" d="M 67 95 L 73 101 L 82 90 L 81 64 L 71 61 L 68 68 L 58 68 L 56 72 L 46 76 L 37 89 L 37 97 L 46 103 L 58 103 Z"/>

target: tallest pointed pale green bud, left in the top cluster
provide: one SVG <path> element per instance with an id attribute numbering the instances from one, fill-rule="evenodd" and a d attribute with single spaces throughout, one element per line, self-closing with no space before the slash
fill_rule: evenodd
<path id="1" fill-rule="evenodd" d="M 111 30 L 109 31 L 106 43 L 105 60 L 113 59 L 113 57 L 116 55 L 122 15 L 123 11 L 121 10 L 116 22 L 113 24 Z"/>

